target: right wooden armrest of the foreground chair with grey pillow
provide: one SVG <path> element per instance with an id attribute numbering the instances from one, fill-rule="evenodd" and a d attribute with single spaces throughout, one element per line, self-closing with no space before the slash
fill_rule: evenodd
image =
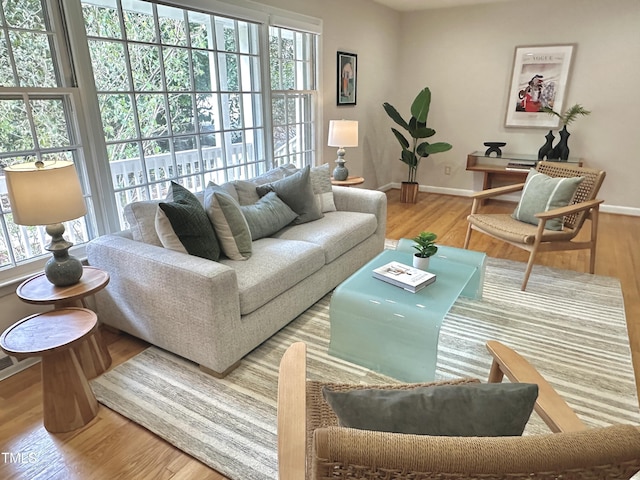
<path id="1" fill-rule="evenodd" d="M 500 382 L 503 375 L 506 375 L 512 382 L 536 383 L 538 399 L 534 409 L 552 432 L 576 432 L 586 429 L 585 424 L 564 399 L 521 355 L 495 340 L 487 342 L 487 350 L 493 357 L 489 382 Z"/>

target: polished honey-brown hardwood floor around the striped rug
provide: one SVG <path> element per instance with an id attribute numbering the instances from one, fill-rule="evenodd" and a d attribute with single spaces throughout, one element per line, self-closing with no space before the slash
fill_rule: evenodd
<path id="1" fill-rule="evenodd" d="M 462 247 L 471 201 L 420 193 L 415 205 L 401 204 L 399 191 L 387 193 L 388 238 L 412 237 L 422 230 L 439 234 L 439 243 Z M 508 212 L 512 204 L 493 202 L 487 212 Z M 602 214 L 596 273 L 620 279 L 636 384 L 640 384 L 640 218 Z M 474 250 L 526 261 L 527 253 L 475 233 Z M 586 252 L 554 252 L 539 264 L 587 271 Z M 535 271 L 535 267 L 534 267 Z M 114 365 L 146 348 L 127 335 L 105 332 Z M 615 372 L 613 372 L 615 375 Z M 98 416 L 75 432 L 52 435 L 42 426 L 39 365 L 0 382 L 0 478 L 42 480 L 202 479 L 225 477 L 180 452 L 149 431 L 101 406 Z"/>

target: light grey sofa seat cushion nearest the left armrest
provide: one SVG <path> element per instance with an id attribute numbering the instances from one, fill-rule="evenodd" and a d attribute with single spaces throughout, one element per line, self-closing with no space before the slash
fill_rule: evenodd
<path id="1" fill-rule="evenodd" d="M 246 262 L 221 259 L 236 272 L 240 313 L 246 315 L 324 266 L 320 247 L 308 242 L 263 238 L 253 242 Z"/>

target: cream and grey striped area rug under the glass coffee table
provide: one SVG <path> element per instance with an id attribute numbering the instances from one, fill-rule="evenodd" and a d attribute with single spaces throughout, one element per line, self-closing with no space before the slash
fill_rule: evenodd
<path id="1" fill-rule="evenodd" d="M 482 300 L 460 298 L 445 318 L 437 378 L 486 379 L 496 339 L 529 359 L 590 426 L 640 424 L 624 306 L 616 279 L 489 259 Z M 277 478 L 278 364 L 308 345 L 308 376 L 394 382 L 327 355 L 330 295 L 251 352 L 225 379 L 151 347 L 91 382 L 98 400 L 233 480 Z M 546 432 L 534 414 L 526 433 Z"/>

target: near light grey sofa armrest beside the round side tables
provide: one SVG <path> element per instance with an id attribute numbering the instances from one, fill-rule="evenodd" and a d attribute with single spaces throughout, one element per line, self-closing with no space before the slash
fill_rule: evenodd
<path id="1" fill-rule="evenodd" d="M 89 242 L 87 258 L 111 274 L 96 295 L 102 322 L 215 372 L 242 356 L 235 351 L 240 304 L 232 268 L 117 235 Z"/>

